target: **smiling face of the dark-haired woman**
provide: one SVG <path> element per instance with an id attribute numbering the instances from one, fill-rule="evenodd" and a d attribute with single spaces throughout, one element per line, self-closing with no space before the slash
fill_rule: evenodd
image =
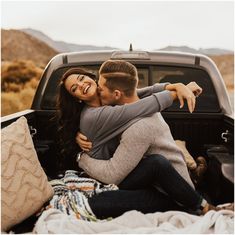
<path id="1" fill-rule="evenodd" d="M 90 101 L 97 96 L 97 84 L 90 77 L 82 74 L 71 74 L 65 80 L 65 89 L 74 97 Z"/>

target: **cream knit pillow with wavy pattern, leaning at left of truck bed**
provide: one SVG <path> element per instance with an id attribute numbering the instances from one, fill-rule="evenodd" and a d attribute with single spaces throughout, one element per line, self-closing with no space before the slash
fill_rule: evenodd
<path id="1" fill-rule="evenodd" d="M 37 212 L 52 197 L 29 132 L 19 118 L 1 133 L 1 230 L 6 231 Z"/>

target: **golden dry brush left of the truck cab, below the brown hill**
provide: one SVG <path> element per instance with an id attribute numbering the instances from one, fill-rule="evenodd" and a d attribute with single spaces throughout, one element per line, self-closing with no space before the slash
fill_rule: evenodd
<path id="1" fill-rule="evenodd" d="M 1 70 L 1 116 L 30 108 L 43 69 L 18 60 L 3 62 Z"/>

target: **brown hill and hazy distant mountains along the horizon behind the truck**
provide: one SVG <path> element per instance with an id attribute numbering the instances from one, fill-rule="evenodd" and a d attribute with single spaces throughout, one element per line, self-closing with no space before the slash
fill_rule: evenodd
<path id="1" fill-rule="evenodd" d="M 34 63 L 36 63 L 36 65 L 41 67 L 44 67 L 52 57 L 61 52 L 85 50 L 119 50 L 118 48 L 114 47 L 79 45 L 63 41 L 55 41 L 44 33 L 34 29 L 1 29 L 1 36 L 2 61 L 32 60 Z M 158 50 L 201 53 L 209 55 L 210 57 L 216 57 L 216 59 L 218 59 L 217 57 L 220 56 L 219 60 L 221 61 L 221 66 L 225 63 L 222 63 L 222 60 L 224 60 L 226 56 L 233 57 L 233 51 L 219 48 L 196 50 L 187 46 L 168 46 Z M 233 66 L 231 69 L 233 69 Z"/>

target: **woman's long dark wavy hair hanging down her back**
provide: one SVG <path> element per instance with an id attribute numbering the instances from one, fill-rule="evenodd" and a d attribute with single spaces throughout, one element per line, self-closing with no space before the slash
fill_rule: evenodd
<path id="1" fill-rule="evenodd" d="M 84 68 L 71 68 L 67 70 L 59 83 L 57 96 L 57 125 L 60 153 L 62 156 L 62 168 L 77 169 L 76 154 L 81 151 L 76 143 L 76 134 L 80 129 L 80 115 L 85 106 L 84 102 L 79 102 L 78 98 L 73 97 L 65 88 L 66 79 L 72 74 L 87 75 L 96 79 L 96 75 Z"/>

